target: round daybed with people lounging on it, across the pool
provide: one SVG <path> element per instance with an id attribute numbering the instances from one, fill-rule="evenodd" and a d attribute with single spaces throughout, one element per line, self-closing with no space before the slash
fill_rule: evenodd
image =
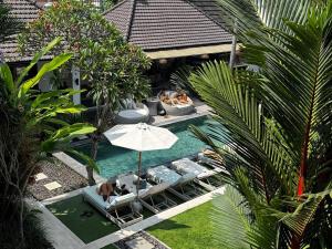
<path id="1" fill-rule="evenodd" d="M 177 92 L 175 91 L 166 91 L 164 92 L 166 95 L 168 95 L 168 97 L 172 100 L 174 97 L 176 97 Z M 160 100 L 160 93 L 158 94 L 158 98 Z M 166 111 L 166 114 L 168 115 L 173 115 L 173 116 L 183 116 L 183 115 L 187 115 L 190 114 L 193 112 L 195 112 L 195 106 L 193 101 L 190 100 L 190 97 L 187 97 L 188 103 L 186 104 L 166 104 L 165 102 L 163 102 L 160 100 L 160 103 L 163 105 L 163 107 Z"/>

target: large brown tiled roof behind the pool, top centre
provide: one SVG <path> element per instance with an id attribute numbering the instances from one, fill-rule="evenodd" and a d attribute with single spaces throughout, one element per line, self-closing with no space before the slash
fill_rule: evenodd
<path id="1" fill-rule="evenodd" d="M 221 25 L 187 0 L 124 0 L 105 18 L 145 51 L 231 42 Z"/>

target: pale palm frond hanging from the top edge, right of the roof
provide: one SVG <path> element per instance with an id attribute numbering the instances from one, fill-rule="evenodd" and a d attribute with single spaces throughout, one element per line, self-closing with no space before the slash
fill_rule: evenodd
<path id="1" fill-rule="evenodd" d="M 304 23 L 311 0 L 217 0 L 230 32 L 237 25 L 242 42 L 252 41 L 250 33 L 261 33 L 266 28 L 291 32 L 283 20 Z"/>

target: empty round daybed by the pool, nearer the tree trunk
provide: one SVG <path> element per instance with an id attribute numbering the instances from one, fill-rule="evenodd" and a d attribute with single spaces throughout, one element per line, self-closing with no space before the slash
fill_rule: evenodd
<path id="1" fill-rule="evenodd" d="M 147 123 L 148 120 L 149 111 L 144 104 L 141 104 L 139 107 L 122 110 L 115 116 L 116 124 Z"/>

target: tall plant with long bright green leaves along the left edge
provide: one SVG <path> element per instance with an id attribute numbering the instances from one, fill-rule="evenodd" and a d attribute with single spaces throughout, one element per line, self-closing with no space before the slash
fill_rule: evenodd
<path id="1" fill-rule="evenodd" d="M 17 79 L 8 64 L 0 65 L 0 242 L 6 243 L 0 248 L 49 248 L 48 242 L 45 247 L 31 247 L 39 240 L 27 238 L 33 234 L 31 226 L 35 222 L 28 220 L 31 211 L 24 198 L 40 159 L 58 149 L 69 151 L 97 170 L 92 159 L 70 146 L 72 138 L 92 133 L 95 128 L 84 123 L 70 125 L 59 118 L 59 115 L 72 115 L 85 110 L 73 104 L 72 95 L 76 92 L 62 90 L 39 93 L 33 89 L 45 73 L 62 66 L 72 54 L 54 56 L 35 76 L 25 79 L 33 65 L 59 42 L 60 39 L 55 39 L 37 53 Z M 13 242 L 11 247 L 7 246 L 9 241 Z"/>

